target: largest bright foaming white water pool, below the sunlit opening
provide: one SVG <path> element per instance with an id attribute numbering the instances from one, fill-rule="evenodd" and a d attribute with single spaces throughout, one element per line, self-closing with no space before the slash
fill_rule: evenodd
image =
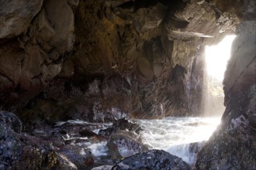
<path id="1" fill-rule="evenodd" d="M 136 120 L 143 128 L 145 143 L 163 149 L 193 165 L 202 141 L 208 141 L 220 124 L 220 117 L 166 117 L 161 120 Z M 195 143 L 196 142 L 196 143 Z"/>

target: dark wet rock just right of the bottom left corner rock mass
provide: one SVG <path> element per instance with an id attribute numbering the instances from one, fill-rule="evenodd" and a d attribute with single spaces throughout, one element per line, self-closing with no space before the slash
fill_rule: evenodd
<path id="1" fill-rule="evenodd" d="M 85 168 L 94 162 L 92 154 L 88 150 L 75 145 L 65 145 L 58 152 L 65 155 L 78 169 Z"/>

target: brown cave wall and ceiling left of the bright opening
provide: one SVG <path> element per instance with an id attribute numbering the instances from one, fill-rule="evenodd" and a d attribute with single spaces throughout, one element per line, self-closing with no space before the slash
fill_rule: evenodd
<path id="1" fill-rule="evenodd" d="M 0 108 L 48 120 L 63 113 L 63 119 L 200 114 L 204 46 L 234 32 L 242 6 L 197 0 L 25 2 L 1 5 Z M 24 15 L 24 21 L 9 15 Z"/>

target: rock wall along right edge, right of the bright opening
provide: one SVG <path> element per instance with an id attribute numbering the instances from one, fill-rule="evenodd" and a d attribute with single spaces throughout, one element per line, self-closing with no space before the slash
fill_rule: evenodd
<path id="1" fill-rule="evenodd" d="M 199 152 L 196 169 L 256 168 L 255 2 L 245 1 L 225 73 L 222 124 Z"/>

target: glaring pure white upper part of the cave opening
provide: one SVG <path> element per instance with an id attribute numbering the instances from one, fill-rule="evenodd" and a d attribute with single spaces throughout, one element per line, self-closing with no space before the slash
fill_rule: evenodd
<path id="1" fill-rule="evenodd" d="M 227 61 L 230 59 L 231 45 L 235 37 L 226 36 L 216 46 L 206 46 L 207 73 L 216 80 L 223 81 Z"/>

